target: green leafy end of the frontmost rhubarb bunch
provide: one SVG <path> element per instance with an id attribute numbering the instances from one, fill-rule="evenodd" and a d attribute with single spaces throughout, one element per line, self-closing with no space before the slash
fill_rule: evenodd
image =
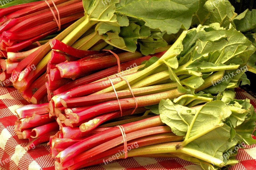
<path id="1" fill-rule="evenodd" d="M 232 100 L 229 105 L 215 100 L 196 108 L 189 109 L 169 99 L 159 104 L 162 122 L 169 125 L 176 135 L 186 135 L 184 141 L 176 146 L 174 154 L 178 157 L 197 164 L 202 161 L 200 165 L 203 167 L 209 167 L 203 165 L 204 161 L 214 167 L 223 167 L 238 162 L 234 159 L 237 153 L 235 146 L 239 147 L 242 142 L 250 145 L 256 143 L 251 137 L 256 116 L 249 100 Z M 245 117 L 242 124 L 233 128 L 229 118 L 234 113 L 246 112 L 252 116 Z"/>

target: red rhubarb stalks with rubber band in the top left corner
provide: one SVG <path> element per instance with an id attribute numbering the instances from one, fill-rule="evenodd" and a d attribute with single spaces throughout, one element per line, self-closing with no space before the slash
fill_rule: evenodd
<path id="1" fill-rule="evenodd" d="M 39 1 L 20 10 L 1 11 L 0 48 L 6 52 L 20 51 L 82 16 L 81 0 Z"/>

